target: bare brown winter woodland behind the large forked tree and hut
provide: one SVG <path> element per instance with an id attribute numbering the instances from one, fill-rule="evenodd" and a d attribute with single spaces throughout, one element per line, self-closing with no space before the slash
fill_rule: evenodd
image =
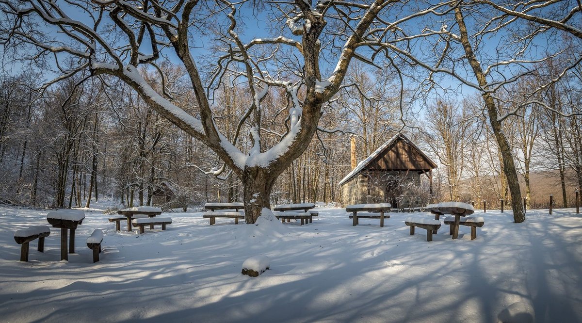
<path id="1" fill-rule="evenodd" d="M 551 75 L 552 67 L 542 65 Z M 563 116 L 576 111 L 582 100 L 582 71 L 563 79 L 540 94 L 553 107 L 530 105 L 523 114 L 508 119 L 509 135 L 518 158 L 520 182 L 530 207 L 574 204 L 574 192 L 582 187 L 582 118 Z M 144 70 L 144 74 L 148 71 Z M 166 66 L 183 107 L 193 105 L 182 84 L 184 72 Z M 318 134 L 300 158 L 279 176 L 272 203 L 338 200 L 338 182 L 352 168 L 349 144 L 356 137 L 361 161 L 402 129 L 440 166 L 434 172 L 435 200 L 469 201 L 498 207 L 508 200 L 508 188 L 500 167 L 495 140 L 487 126 L 480 96 L 462 100 L 424 100 L 425 105 L 401 115 L 399 92 L 385 71 L 356 64 L 350 81 L 364 91 L 343 91 L 334 109 L 324 115 L 327 129 Z M 240 201 L 241 186 L 232 172 L 215 176 L 221 163 L 204 145 L 152 111 L 123 84 L 102 84 L 98 79 L 75 86 L 70 79 L 43 91 L 41 72 L 2 77 L 0 132 L 0 199 L 2 203 L 62 208 L 88 207 L 91 200 L 113 198 L 125 205 L 151 205 L 152 191 L 161 183 L 175 193 L 165 207 L 198 206 L 207 201 Z M 151 80 L 156 84 L 156 80 Z M 508 101 L 537 86 L 524 79 L 508 91 Z M 236 129 L 244 109 L 244 89 L 223 86 L 217 102 L 225 107 L 217 118 L 225 133 Z M 283 126 L 285 102 L 272 93 L 269 122 Z M 512 97 L 513 96 L 513 97 Z M 506 106 L 510 111 L 512 107 Z M 272 133 L 272 140 L 280 134 Z M 540 187 L 530 184 L 537 175 Z M 537 192 L 536 192 L 537 191 Z M 534 192 L 534 193 L 532 193 Z M 537 193 L 537 194 L 535 194 Z"/>

